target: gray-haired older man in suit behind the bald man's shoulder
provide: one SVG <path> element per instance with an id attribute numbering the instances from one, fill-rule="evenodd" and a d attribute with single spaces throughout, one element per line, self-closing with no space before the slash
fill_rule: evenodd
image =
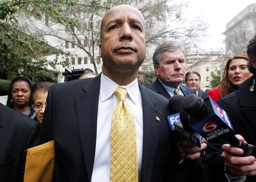
<path id="1" fill-rule="evenodd" d="M 177 89 L 180 95 L 195 94 L 192 88 L 181 84 L 185 79 L 187 61 L 183 46 L 177 41 L 160 44 L 153 54 L 155 74 L 158 78 L 148 88 L 170 99 Z"/>

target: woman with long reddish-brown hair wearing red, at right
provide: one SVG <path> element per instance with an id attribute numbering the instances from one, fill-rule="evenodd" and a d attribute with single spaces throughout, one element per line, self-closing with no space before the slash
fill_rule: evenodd
<path id="1" fill-rule="evenodd" d="M 217 101 L 231 92 L 237 91 L 240 84 L 252 75 L 247 67 L 248 62 L 247 54 L 236 54 L 236 56 L 229 59 L 226 62 L 221 83 L 210 90 L 207 96 Z"/>

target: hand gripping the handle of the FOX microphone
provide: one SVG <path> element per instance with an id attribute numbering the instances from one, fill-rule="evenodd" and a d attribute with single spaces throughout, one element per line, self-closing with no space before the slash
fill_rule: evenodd
<path id="1" fill-rule="evenodd" d="M 182 157 L 186 156 L 189 160 L 195 160 L 201 156 L 202 151 L 207 147 L 207 141 L 204 139 L 204 143 L 199 148 L 186 139 L 181 139 L 177 142 L 177 147 Z"/>

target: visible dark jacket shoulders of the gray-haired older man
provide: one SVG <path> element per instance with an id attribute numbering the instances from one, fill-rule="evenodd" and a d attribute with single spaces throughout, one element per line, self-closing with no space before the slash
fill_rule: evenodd
<path id="1" fill-rule="evenodd" d="M 166 88 L 164 88 L 163 84 L 160 83 L 158 78 L 156 78 L 155 82 L 151 83 L 147 87 L 157 92 L 158 94 L 163 95 L 167 99 L 171 98 L 171 95 L 167 92 Z M 180 84 L 180 90 L 183 92 L 184 96 L 187 96 L 189 94 L 196 94 L 196 92 L 192 88 L 189 88 L 184 84 Z"/>

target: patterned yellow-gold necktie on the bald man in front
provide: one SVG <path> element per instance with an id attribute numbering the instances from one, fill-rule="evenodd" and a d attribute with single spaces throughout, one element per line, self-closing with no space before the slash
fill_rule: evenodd
<path id="1" fill-rule="evenodd" d="M 110 182 L 138 182 L 138 159 L 133 113 L 126 105 L 127 91 L 118 87 L 110 132 Z"/>

